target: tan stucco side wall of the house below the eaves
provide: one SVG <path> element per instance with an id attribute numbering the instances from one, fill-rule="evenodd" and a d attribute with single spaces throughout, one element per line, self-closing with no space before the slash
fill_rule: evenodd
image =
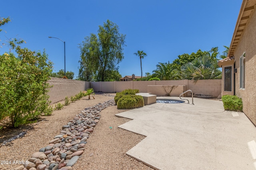
<path id="1" fill-rule="evenodd" d="M 256 10 L 252 12 L 234 51 L 235 95 L 242 98 L 243 112 L 256 125 Z M 245 88 L 240 89 L 240 56 L 245 52 Z"/>

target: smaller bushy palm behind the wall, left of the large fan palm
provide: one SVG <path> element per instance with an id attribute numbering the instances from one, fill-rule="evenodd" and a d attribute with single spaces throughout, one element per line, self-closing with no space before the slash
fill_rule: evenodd
<path id="1" fill-rule="evenodd" d="M 156 70 L 153 70 L 154 75 L 160 80 L 179 80 L 181 78 L 180 71 L 173 68 L 169 61 L 168 63 L 158 63 Z"/>

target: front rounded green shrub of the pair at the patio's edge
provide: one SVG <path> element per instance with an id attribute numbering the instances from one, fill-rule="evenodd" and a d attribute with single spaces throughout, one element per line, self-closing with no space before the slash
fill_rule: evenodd
<path id="1" fill-rule="evenodd" d="M 134 109 L 142 106 L 144 106 L 143 97 L 135 94 L 124 95 L 117 102 L 118 109 Z"/>

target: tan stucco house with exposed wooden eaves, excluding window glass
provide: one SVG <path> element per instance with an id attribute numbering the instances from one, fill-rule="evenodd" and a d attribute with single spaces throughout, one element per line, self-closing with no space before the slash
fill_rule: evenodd
<path id="1" fill-rule="evenodd" d="M 243 112 L 256 125 L 256 0 L 243 0 L 228 58 L 219 61 L 222 66 L 222 95 L 242 98 Z M 240 57 L 244 58 L 244 88 L 241 86 Z M 232 92 L 224 91 L 224 67 L 232 66 Z M 234 68 L 237 72 L 234 73 Z"/>

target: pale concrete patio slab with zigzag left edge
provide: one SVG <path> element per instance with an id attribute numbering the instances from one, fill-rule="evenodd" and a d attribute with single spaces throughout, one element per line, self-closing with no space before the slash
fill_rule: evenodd
<path id="1" fill-rule="evenodd" d="M 222 101 L 156 103 L 117 116 L 133 119 L 120 128 L 146 136 L 126 154 L 155 169 L 256 167 L 256 127 L 244 113 L 224 111 Z"/>

